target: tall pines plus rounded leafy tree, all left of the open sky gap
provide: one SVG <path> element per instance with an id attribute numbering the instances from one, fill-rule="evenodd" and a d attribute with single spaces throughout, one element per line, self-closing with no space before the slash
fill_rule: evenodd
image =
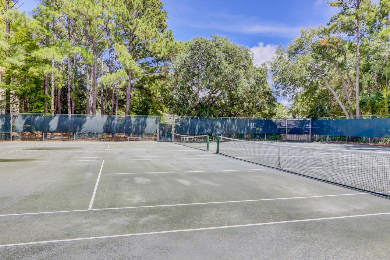
<path id="1" fill-rule="evenodd" d="M 22 113 L 275 115 L 250 50 L 175 41 L 160 0 L 40 0 L 30 15 L 19 5 L 0 0 L 5 112 L 16 97 Z"/>

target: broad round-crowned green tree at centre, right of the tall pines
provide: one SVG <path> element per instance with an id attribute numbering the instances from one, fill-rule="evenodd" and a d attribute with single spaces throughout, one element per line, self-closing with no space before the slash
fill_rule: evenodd
<path id="1" fill-rule="evenodd" d="M 228 38 L 194 38 L 172 64 L 172 113 L 191 116 L 275 114 L 267 69 L 255 68 L 252 53 Z"/>

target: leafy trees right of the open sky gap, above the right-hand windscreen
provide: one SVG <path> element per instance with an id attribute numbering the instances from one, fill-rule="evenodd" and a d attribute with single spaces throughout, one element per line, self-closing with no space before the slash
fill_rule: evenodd
<path id="1" fill-rule="evenodd" d="M 337 0 L 327 25 L 303 28 L 269 62 L 293 116 L 389 114 L 390 1 Z"/>

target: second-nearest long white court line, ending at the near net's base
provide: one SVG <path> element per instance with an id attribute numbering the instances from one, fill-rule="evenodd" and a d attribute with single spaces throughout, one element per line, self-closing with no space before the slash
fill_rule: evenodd
<path id="1" fill-rule="evenodd" d="M 84 211 L 100 211 L 100 210 L 120 210 L 120 209 L 131 209 L 131 208 L 160 208 L 160 207 L 177 207 L 177 206 L 190 206 L 190 205 L 225 204 L 225 203 L 238 203 L 238 202 L 283 200 L 283 199 L 323 198 L 323 197 L 351 196 L 351 195 L 363 195 L 363 194 L 371 194 L 371 192 L 335 194 L 335 195 L 318 195 L 318 196 L 305 196 L 305 197 L 289 197 L 289 198 L 273 198 L 273 199 L 248 199 L 248 200 L 181 203 L 181 204 L 165 204 L 165 205 L 151 205 L 151 206 L 133 206 L 133 207 L 121 207 L 121 208 L 94 208 L 94 209 L 87 209 L 87 210 L 62 210 L 62 211 L 46 211 L 46 212 L 34 212 L 34 213 L 15 213 L 15 214 L 0 215 L 0 217 L 21 216 L 21 215 L 56 214 L 56 213 L 84 212 Z"/>

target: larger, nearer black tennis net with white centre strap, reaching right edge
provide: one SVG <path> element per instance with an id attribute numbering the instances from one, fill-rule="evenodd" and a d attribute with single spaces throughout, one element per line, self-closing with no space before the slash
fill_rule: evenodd
<path id="1" fill-rule="evenodd" d="M 218 136 L 217 153 L 390 196 L 390 155 L 243 141 Z"/>

